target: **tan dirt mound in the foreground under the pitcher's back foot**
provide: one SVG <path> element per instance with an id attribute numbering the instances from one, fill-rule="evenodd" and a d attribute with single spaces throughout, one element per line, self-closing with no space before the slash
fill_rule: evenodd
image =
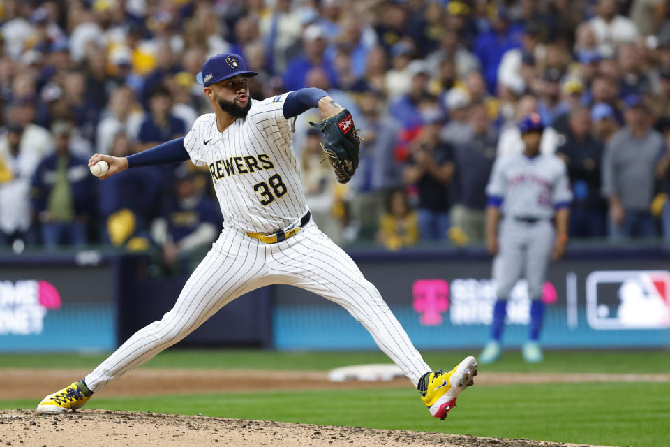
<path id="1" fill-rule="evenodd" d="M 567 447 L 576 444 L 87 409 L 59 416 L 0 411 L 7 446 L 441 446 Z"/>

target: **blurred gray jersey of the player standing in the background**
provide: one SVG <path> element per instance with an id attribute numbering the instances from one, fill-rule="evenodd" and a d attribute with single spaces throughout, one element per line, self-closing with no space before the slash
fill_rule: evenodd
<path id="1" fill-rule="evenodd" d="M 498 157 L 486 193 L 502 198 L 505 217 L 551 219 L 555 205 L 572 200 L 565 163 L 553 155 Z"/>

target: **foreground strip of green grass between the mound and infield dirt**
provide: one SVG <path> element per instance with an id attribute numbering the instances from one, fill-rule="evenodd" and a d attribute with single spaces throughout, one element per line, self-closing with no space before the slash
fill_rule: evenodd
<path id="1" fill-rule="evenodd" d="M 664 446 L 670 436 L 670 383 L 475 386 L 444 422 L 430 418 L 411 389 L 96 398 L 88 407 L 612 446 Z"/>

